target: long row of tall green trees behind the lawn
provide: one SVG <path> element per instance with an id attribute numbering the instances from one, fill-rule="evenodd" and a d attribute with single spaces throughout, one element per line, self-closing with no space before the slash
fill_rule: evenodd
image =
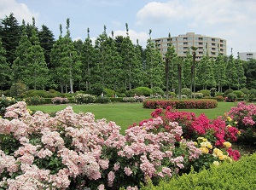
<path id="1" fill-rule="evenodd" d="M 10 89 L 15 83 L 62 93 L 97 86 L 113 90 L 160 87 L 166 91 L 192 89 L 193 85 L 197 90 L 215 87 L 218 91 L 255 86 L 256 60 L 206 54 L 195 61 L 193 49 L 182 59 L 172 43 L 163 57 L 151 40 L 151 30 L 143 49 L 138 40 L 131 42 L 127 23 L 126 36 L 114 37 L 113 31 L 108 36 L 104 26 L 95 43 L 89 28 L 84 41 L 73 41 L 69 28 L 67 19 L 66 32 L 60 25 L 60 35 L 55 39 L 47 26 L 39 30 L 34 18 L 32 24 L 23 20 L 20 25 L 14 14 L 5 16 L 0 21 L 0 89 Z"/>

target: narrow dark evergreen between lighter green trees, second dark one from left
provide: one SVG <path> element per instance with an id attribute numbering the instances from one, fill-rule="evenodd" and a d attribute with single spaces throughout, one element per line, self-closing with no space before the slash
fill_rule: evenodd
<path id="1" fill-rule="evenodd" d="M 47 63 L 48 68 L 51 68 L 49 55 L 53 44 L 55 43 L 55 38 L 53 32 L 45 25 L 42 26 L 41 30 L 38 32 L 39 42 L 41 47 L 44 49 L 44 58 Z"/>

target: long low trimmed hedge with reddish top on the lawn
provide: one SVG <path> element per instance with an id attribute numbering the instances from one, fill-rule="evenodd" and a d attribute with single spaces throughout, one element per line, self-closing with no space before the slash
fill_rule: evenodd
<path id="1" fill-rule="evenodd" d="M 218 107 L 218 101 L 211 99 L 201 100 L 184 100 L 184 101 L 173 101 L 173 100 L 152 100 L 147 99 L 143 101 L 143 107 L 149 109 L 172 107 L 176 109 L 211 109 Z"/>

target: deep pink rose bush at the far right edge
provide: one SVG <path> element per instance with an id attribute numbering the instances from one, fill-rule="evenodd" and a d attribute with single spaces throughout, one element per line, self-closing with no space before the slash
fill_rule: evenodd
<path id="1" fill-rule="evenodd" d="M 244 143 L 256 143 L 256 106 L 241 101 L 236 107 L 231 107 L 225 115 L 227 124 L 236 125 L 241 130 L 239 141 Z"/>

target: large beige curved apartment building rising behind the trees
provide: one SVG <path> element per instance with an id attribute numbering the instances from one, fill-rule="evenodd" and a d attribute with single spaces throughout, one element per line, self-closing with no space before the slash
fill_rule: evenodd
<path id="1" fill-rule="evenodd" d="M 226 55 L 227 51 L 226 40 L 219 37 L 195 34 L 195 32 L 187 32 L 186 34 L 178 35 L 178 37 L 171 37 L 171 42 L 169 37 L 152 39 L 152 42 L 160 50 L 163 57 L 165 57 L 169 43 L 172 43 L 177 55 L 180 57 L 185 57 L 188 51 L 192 54 L 191 46 L 197 47 L 196 60 L 201 60 L 201 57 L 207 54 L 207 50 L 208 55 L 211 57 L 217 57 L 218 52 L 221 55 Z"/>

